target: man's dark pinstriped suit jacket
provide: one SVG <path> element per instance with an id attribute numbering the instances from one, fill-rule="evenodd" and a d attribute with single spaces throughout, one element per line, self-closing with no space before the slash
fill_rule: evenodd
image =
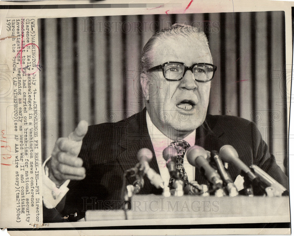
<path id="1" fill-rule="evenodd" d="M 287 176 L 268 152 L 268 146 L 253 122 L 239 117 L 207 115 L 205 122 L 196 129 L 195 145 L 211 151 L 219 150 L 225 144 L 232 145 L 246 165 L 258 165 L 288 188 Z M 62 221 L 66 215 L 70 216 L 69 220 L 77 220 L 84 217 L 86 210 L 118 208 L 123 173 L 136 165 L 136 154 L 143 147 L 153 152 L 150 167 L 159 173 L 146 125 L 146 109 L 120 122 L 89 126 L 79 155 L 87 176 L 83 181 L 70 182 L 66 199 L 56 208 L 44 207 L 44 222 Z M 240 174 L 230 164 L 228 172 L 233 180 Z M 195 176 L 198 183 L 208 184 L 197 168 Z M 134 180 L 128 178 L 127 184 Z M 147 178 L 144 181 L 140 194 L 161 193 Z M 78 216 L 73 217 L 71 214 L 74 213 Z"/>

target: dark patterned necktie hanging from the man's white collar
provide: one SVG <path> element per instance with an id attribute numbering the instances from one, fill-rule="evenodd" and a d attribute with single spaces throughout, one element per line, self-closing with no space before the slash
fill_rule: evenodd
<path id="1" fill-rule="evenodd" d="M 177 149 L 178 156 L 177 156 L 177 159 L 176 159 L 176 167 L 180 171 L 180 177 L 182 179 L 188 181 L 188 176 L 187 176 L 187 173 L 186 173 L 186 171 L 184 169 L 183 163 L 184 163 L 184 155 L 185 155 L 188 147 L 190 147 L 190 144 L 188 144 L 188 142 L 186 142 L 184 140 L 181 140 L 181 141 L 173 141 L 168 146 L 172 146 L 175 149 Z M 174 178 L 171 177 L 169 179 L 168 187 L 173 188 L 173 181 L 174 181 Z M 184 184 L 184 187 L 185 186 L 187 186 L 186 183 Z"/>

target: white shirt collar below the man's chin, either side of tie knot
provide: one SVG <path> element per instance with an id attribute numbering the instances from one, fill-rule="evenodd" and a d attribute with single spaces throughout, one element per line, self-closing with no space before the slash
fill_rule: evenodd
<path id="1" fill-rule="evenodd" d="M 165 149 L 171 142 L 174 141 L 172 139 L 169 139 L 163 133 L 161 133 L 161 131 L 152 123 L 151 118 L 148 114 L 148 111 L 146 111 L 146 122 L 147 122 L 148 133 L 150 135 L 151 142 L 155 151 L 163 151 L 163 149 Z M 188 144 L 190 144 L 190 146 L 194 146 L 195 137 L 196 137 L 196 130 L 194 130 L 191 134 L 189 134 L 182 140 L 187 141 Z"/>

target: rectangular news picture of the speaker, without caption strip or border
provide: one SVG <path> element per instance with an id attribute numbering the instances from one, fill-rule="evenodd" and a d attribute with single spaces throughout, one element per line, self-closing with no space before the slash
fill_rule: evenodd
<path id="1" fill-rule="evenodd" d="M 38 33 L 44 222 L 290 220 L 283 11 L 42 18 Z"/>

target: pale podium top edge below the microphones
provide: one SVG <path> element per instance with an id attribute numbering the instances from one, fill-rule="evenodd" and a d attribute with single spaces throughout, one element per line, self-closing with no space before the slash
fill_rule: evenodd
<path id="1" fill-rule="evenodd" d="M 223 217 L 273 217 L 280 222 L 290 222 L 289 197 L 134 195 L 130 210 L 88 210 L 85 220 Z"/>

